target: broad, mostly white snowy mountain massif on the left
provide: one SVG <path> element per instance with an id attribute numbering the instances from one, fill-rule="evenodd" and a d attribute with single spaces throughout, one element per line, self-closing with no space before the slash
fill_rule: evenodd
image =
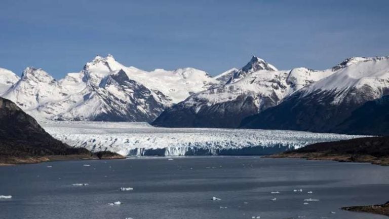
<path id="1" fill-rule="evenodd" d="M 54 120 L 152 121 L 191 93 L 220 83 L 195 68 L 147 72 L 112 55 L 96 56 L 59 81 L 40 68 L 26 68 L 20 80 L 3 71 L 2 87 L 9 88 L 3 97 L 35 118 Z"/>

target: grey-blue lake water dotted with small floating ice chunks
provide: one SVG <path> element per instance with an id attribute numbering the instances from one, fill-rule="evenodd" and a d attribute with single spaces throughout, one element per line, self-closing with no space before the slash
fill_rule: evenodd
<path id="1" fill-rule="evenodd" d="M 59 161 L 0 167 L 0 195 L 13 196 L 0 199 L 7 219 L 387 218 L 339 208 L 389 201 L 389 167 L 260 157 Z M 108 205 L 115 201 L 122 204 Z"/>

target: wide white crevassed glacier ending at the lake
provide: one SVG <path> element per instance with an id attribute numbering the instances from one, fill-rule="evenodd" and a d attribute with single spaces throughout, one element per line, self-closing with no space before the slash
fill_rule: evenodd
<path id="1" fill-rule="evenodd" d="M 265 155 L 361 137 L 287 130 L 158 128 L 139 122 L 41 121 L 55 138 L 93 152 L 121 155 Z"/>

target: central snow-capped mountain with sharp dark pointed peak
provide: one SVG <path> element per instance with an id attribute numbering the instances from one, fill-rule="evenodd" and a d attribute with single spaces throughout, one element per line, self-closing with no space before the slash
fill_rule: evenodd
<path id="1" fill-rule="evenodd" d="M 167 109 L 152 124 L 235 128 L 243 118 L 276 106 L 291 93 L 331 74 L 332 70 L 307 68 L 277 70 L 253 56 L 224 86 L 191 95 Z"/>

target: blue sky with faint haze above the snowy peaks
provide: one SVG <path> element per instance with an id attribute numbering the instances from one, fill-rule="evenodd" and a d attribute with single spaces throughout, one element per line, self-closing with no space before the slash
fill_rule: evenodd
<path id="1" fill-rule="evenodd" d="M 0 67 L 59 79 L 108 53 L 145 70 L 211 75 L 252 55 L 279 69 L 324 69 L 389 55 L 389 1 L 1 1 Z"/>

